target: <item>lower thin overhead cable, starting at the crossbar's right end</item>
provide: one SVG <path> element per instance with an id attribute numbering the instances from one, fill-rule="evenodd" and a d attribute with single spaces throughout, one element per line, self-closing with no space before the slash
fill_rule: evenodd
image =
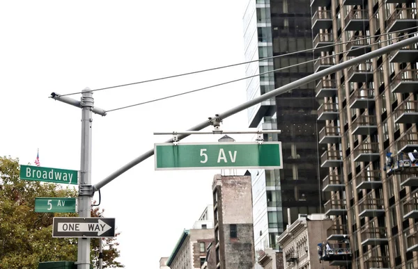
<path id="1" fill-rule="evenodd" d="M 408 34 L 406 34 L 406 35 L 400 35 L 400 36 L 398 36 L 398 37 L 396 37 L 396 38 L 391 38 L 391 39 L 385 40 L 385 41 L 383 41 L 383 42 L 387 42 L 387 41 L 390 41 L 390 40 L 394 40 L 394 39 L 402 38 L 402 37 L 405 37 L 405 36 L 408 36 L 408 35 L 415 35 L 415 34 L 417 34 L 417 33 L 418 33 L 418 32 L 408 33 Z M 373 46 L 373 45 L 375 45 L 375 44 L 376 44 L 376 43 L 373 43 L 373 44 L 367 44 L 367 45 L 365 45 L 365 46 L 362 46 L 362 47 L 358 47 L 358 48 L 352 49 L 351 51 L 355 51 L 355 50 L 358 50 L 358 49 L 364 49 L 364 47 L 371 47 L 371 46 Z M 334 46 L 334 45 L 333 45 L 333 46 Z M 291 67 L 296 67 L 296 66 L 298 66 L 298 65 L 304 65 L 304 64 L 307 64 L 307 63 L 311 63 L 311 62 L 316 62 L 317 60 L 323 60 L 323 59 L 326 59 L 326 58 L 335 57 L 335 56 L 337 56 L 337 55 L 339 55 L 339 54 L 345 54 L 345 53 L 347 53 L 347 52 L 348 52 L 348 51 L 342 51 L 342 52 L 339 52 L 338 54 L 332 54 L 332 55 L 329 55 L 329 56 L 323 56 L 323 57 L 320 57 L 320 58 L 316 58 L 316 59 L 314 59 L 314 60 L 307 60 L 307 61 L 302 62 L 302 63 L 297 63 L 297 64 L 295 64 L 295 65 L 289 65 L 289 66 L 287 66 L 287 67 L 281 67 L 281 68 L 278 68 L 278 69 L 275 69 L 275 70 L 271 70 L 271 71 L 268 71 L 268 72 L 264 72 L 264 73 L 261 73 L 261 74 L 254 74 L 254 75 L 252 75 L 252 76 L 246 76 L 246 77 L 241 78 L 241 79 L 235 79 L 235 80 L 233 80 L 233 81 L 226 81 L 226 82 L 223 82 L 223 83 L 218 83 L 218 84 L 215 84 L 215 85 L 210 85 L 210 86 L 203 87 L 203 88 L 199 88 L 199 89 L 196 89 L 196 90 L 189 90 L 189 91 L 187 91 L 187 92 L 180 92 L 180 93 L 178 93 L 178 94 L 176 94 L 176 95 L 168 95 L 168 96 L 166 96 L 166 97 L 160 97 L 160 98 L 157 98 L 157 99 L 152 99 L 152 100 L 148 100 L 148 101 L 143 101 L 143 102 L 141 102 L 141 103 L 132 104 L 132 105 L 129 105 L 129 106 L 122 106 L 122 107 L 120 107 L 120 108 L 110 109 L 110 110 L 105 111 L 105 112 L 106 112 L 106 113 L 108 113 L 108 112 L 112 112 L 112 111 L 118 111 L 118 110 L 125 109 L 125 108 L 131 108 L 131 107 L 133 107 L 133 106 L 140 106 L 140 105 L 143 105 L 143 104 L 153 103 L 153 102 L 155 102 L 155 101 L 162 101 L 162 100 L 164 100 L 164 99 L 169 99 L 169 98 L 173 98 L 173 97 L 178 97 L 178 96 L 181 96 L 181 95 L 187 95 L 187 94 L 192 93 L 192 92 L 199 92 L 199 91 L 201 91 L 201 90 L 207 90 L 207 89 L 210 89 L 210 88 L 215 88 L 215 87 L 218 87 L 218 86 L 226 85 L 226 84 L 233 83 L 233 82 L 237 82 L 237 81 L 242 81 L 242 80 L 245 80 L 245 79 L 251 79 L 251 78 L 253 78 L 254 76 L 263 76 L 263 75 L 265 75 L 265 74 L 269 74 L 269 73 L 272 73 L 272 72 L 277 72 L 277 71 L 281 71 L 281 70 L 286 70 L 286 69 L 288 69 L 288 68 L 291 68 Z M 62 95 L 61 95 L 61 96 L 62 96 Z"/>

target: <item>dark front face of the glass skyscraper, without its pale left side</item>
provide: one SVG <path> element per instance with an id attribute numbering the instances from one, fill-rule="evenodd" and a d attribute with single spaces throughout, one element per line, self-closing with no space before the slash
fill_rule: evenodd
<path id="1" fill-rule="evenodd" d="M 272 47 L 274 58 L 274 88 L 279 88 L 314 73 L 312 51 L 314 33 L 311 30 L 309 0 L 271 0 Z M 297 54 L 283 56 L 295 51 Z M 306 52 L 304 52 L 306 51 Z M 311 61 L 311 63 L 306 63 Z M 300 64 L 300 65 L 298 65 Z M 283 147 L 284 168 L 280 170 L 281 206 L 284 227 L 298 214 L 321 213 L 325 197 L 320 197 L 320 179 L 326 170 L 318 170 L 324 149 L 318 145 L 318 99 L 315 83 L 309 83 L 276 97 L 277 129 Z"/>

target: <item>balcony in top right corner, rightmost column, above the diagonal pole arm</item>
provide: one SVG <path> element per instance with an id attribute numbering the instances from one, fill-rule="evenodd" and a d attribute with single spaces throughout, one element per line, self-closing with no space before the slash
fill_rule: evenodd
<path id="1" fill-rule="evenodd" d="M 386 22 L 386 33 L 417 26 L 417 8 L 395 8 Z"/>

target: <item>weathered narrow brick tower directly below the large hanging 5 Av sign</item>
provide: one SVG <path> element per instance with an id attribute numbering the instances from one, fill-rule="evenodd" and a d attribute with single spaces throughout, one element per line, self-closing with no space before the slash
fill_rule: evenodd
<path id="1" fill-rule="evenodd" d="M 247 175 L 248 174 L 248 175 Z M 253 268 L 251 176 L 216 174 L 212 184 L 217 269 Z"/>

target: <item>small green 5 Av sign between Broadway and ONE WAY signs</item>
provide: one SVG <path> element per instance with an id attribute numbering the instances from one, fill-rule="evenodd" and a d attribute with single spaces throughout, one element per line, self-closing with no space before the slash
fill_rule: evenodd
<path id="1" fill-rule="evenodd" d="M 35 212 L 38 213 L 75 213 L 75 198 L 35 198 Z"/>

